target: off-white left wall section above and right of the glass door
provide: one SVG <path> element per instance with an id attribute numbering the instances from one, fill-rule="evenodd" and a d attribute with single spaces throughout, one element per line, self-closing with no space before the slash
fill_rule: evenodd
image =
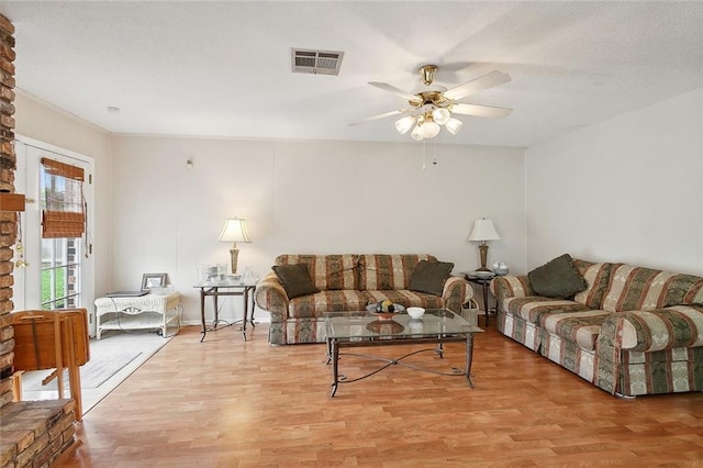
<path id="1" fill-rule="evenodd" d="M 96 231 L 92 234 L 96 292 L 110 289 L 111 230 L 111 137 L 110 133 L 71 116 L 18 90 L 15 133 L 90 156 L 96 161 Z"/>

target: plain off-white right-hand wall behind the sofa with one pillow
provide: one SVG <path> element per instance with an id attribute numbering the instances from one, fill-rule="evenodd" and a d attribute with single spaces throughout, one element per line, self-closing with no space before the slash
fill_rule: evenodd
<path id="1" fill-rule="evenodd" d="M 527 267 L 565 252 L 703 275 L 703 89 L 525 152 Z"/>

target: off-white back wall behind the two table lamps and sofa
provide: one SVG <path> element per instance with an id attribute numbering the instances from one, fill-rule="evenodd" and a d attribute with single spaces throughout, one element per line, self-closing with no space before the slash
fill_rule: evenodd
<path id="1" fill-rule="evenodd" d="M 523 149 L 437 145 L 435 166 L 428 145 L 423 170 L 422 148 L 114 136 L 112 288 L 168 272 L 194 323 L 198 266 L 228 260 L 217 236 L 235 215 L 253 237 L 238 245 L 239 270 L 259 275 L 284 253 L 429 253 L 471 270 L 478 246 L 466 238 L 481 216 L 502 236 L 489 261 L 524 270 Z M 241 316 L 239 301 L 223 314 Z"/>

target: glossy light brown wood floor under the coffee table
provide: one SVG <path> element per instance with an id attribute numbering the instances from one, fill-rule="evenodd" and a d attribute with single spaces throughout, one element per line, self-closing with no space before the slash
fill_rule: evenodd
<path id="1" fill-rule="evenodd" d="M 266 334 L 199 343 L 186 328 L 86 414 L 63 466 L 703 466 L 703 393 L 620 400 L 493 324 L 476 338 L 473 390 L 393 366 L 334 399 L 324 345 L 271 347 Z M 414 361 L 462 367 L 464 346 L 446 350 Z"/>

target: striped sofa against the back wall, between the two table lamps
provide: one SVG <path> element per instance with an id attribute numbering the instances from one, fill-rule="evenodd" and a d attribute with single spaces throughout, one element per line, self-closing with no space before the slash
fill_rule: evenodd
<path id="1" fill-rule="evenodd" d="M 322 343 L 326 312 L 364 311 L 367 304 L 390 300 L 405 308 L 446 308 L 461 313 L 472 290 L 449 276 L 440 294 L 411 289 L 421 261 L 437 263 L 432 255 L 280 255 L 275 267 L 303 265 L 319 292 L 290 299 L 276 271 L 256 287 L 257 305 L 271 314 L 270 344 Z M 445 264 L 448 271 L 451 264 Z"/>

